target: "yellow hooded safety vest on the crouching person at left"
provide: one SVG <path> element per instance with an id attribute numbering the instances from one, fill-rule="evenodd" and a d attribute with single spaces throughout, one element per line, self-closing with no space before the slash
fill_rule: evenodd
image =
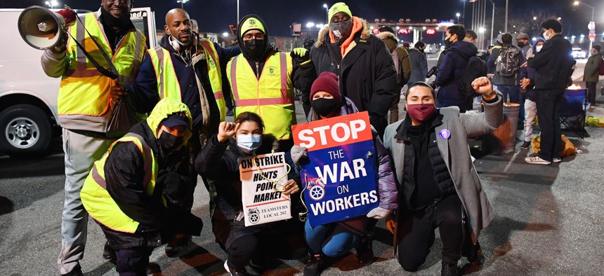
<path id="1" fill-rule="evenodd" d="M 153 194 L 158 170 L 155 156 L 143 137 L 140 137 L 138 134 L 129 133 L 114 142 L 103 158 L 94 163 L 90 174 L 88 174 L 86 181 L 84 181 L 80 198 L 88 214 L 96 219 L 96 221 L 103 223 L 104 226 L 113 230 L 134 233 L 136 232 L 136 228 L 138 228 L 138 221 L 134 221 L 124 214 L 122 209 L 119 209 L 117 203 L 107 192 L 107 182 L 105 181 L 105 162 L 107 161 L 107 157 L 110 155 L 113 146 L 123 142 L 136 144 L 140 152 L 143 153 L 145 170 L 143 186 L 147 195 L 151 196 Z"/>

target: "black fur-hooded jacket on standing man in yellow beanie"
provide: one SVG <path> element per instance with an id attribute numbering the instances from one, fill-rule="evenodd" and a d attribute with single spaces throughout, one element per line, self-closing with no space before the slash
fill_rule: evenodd
<path id="1" fill-rule="evenodd" d="M 338 75 L 342 95 L 350 98 L 359 111 L 369 111 L 371 124 L 382 135 L 388 125 L 386 114 L 398 97 L 394 62 L 390 51 L 372 34 L 367 22 L 360 18 L 354 20 L 362 22 L 362 29 L 353 34 L 354 41 L 348 46 L 352 49 L 342 58 L 339 44 L 330 43 L 329 27 L 324 28 L 310 50 L 315 67 L 304 72 L 310 83 L 324 71 Z M 308 110 L 310 94 L 302 97 Z"/>

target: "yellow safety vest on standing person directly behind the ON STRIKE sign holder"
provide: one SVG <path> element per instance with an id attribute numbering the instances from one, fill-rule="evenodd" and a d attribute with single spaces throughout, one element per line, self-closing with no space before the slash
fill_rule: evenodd
<path id="1" fill-rule="evenodd" d="M 291 125 L 296 124 L 294 85 L 291 72 L 294 66 L 285 53 L 270 55 L 260 78 L 243 57 L 234 57 L 227 65 L 228 80 L 235 101 L 235 117 L 254 112 L 263 118 L 264 132 L 277 139 L 291 138 Z"/>

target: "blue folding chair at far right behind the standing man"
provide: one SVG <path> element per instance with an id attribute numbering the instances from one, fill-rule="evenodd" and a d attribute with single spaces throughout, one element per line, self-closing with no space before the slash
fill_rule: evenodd
<path id="1" fill-rule="evenodd" d="M 574 132 L 579 139 L 584 139 L 585 113 L 589 108 L 586 103 L 587 90 L 565 90 L 564 97 L 560 103 L 560 124 L 563 131 Z"/>

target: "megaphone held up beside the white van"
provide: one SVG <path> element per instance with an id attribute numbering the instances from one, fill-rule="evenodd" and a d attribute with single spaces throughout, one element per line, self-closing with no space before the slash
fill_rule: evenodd
<path id="1" fill-rule="evenodd" d="M 18 28 L 21 37 L 29 46 L 40 50 L 46 50 L 62 43 L 61 32 L 75 25 L 77 13 L 68 6 L 54 13 L 48 8 L 31 6 L 19 15 Z"/>

